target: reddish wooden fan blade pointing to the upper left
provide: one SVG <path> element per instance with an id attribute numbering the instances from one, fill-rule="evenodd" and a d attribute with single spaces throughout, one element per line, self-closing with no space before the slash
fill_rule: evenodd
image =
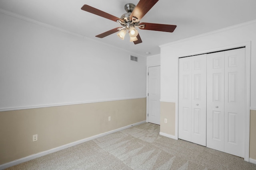
<path id="1" fill-rule="evenodd" d="M 103 12 L 101 10 L 98 10 L 98 9 L 93 8 L 91 6 L 88 6 L 88 5 L 82 6 L 81 10 L 84 10 L 84 11 L 90 12 L 92 14 L 107 18 L 107 19 L 112 20 L 112 21 L 117 21 L 117 20 L 124 21 L 124 20 L 122 20 L 118 17 L 112 16 L 111 14 L 108 14 L 106 12 Z"/>

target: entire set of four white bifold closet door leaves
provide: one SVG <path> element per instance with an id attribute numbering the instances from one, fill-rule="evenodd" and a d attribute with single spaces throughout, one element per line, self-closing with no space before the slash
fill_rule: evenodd
<path id="1" fill-rule="evenodd" d="M 244 157 L 244 117 L 245 48 L 180 58 L 180 139 Z"/>

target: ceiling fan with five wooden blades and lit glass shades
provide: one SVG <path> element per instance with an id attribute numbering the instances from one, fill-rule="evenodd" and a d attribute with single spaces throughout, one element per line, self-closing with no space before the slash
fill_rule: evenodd
<path id="1" fill-rule="evenodd" d="M 82 6 L 81 9 L 92 14 L 107 18 L 109 20 L 116 21 L 121 24 L 121 27 L 116 27 L 99 35 L 96 35 L 96 37 L 103 38 L 110 34 L 120 31 L 117 35 L 121 39 L 124 39 L 126 32 L 129 31 L 130 41 L 133 41 L 134 44 L 138 44 L 142 43 L 142 40 L 136 27 L 138 27 L 139 29 L 164 32 L 173 32 L 174 29 L 176 28 L 176 25 L 146 22 L 140 23 L 142 17 L 156 4 L 156 2 L 158 2 L 158 0 L 140 0 L 137 6 L 128 3 L 124 6 L 124 9 L 127 13 L 123 14 L 121 18 L 112 16 L 111 14 L 108 14 L 106 12 L 103 12 L 88 5 Z"/>

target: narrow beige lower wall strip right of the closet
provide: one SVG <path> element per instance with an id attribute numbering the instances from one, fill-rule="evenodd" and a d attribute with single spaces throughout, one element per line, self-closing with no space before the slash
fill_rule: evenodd
<path id="1" fill-rule="evenodd" d="M 250 158 L 256 160 L 256 110 L 250 111 Z"/>

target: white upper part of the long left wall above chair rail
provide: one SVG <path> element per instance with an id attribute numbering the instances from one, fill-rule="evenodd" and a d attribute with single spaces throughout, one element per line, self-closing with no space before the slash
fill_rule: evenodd
<path id="1" fill-rule="evenodd" d="M 0 23 L 0 111 L 146 97 L 145 57 L 5 14 Z"/>

